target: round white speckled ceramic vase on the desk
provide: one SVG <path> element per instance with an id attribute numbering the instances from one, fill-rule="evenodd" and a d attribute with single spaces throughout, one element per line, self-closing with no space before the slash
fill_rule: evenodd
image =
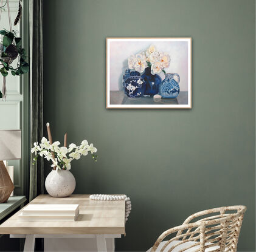
<path id="1" fill-rule="evenodd" d="M 75 177 L 67 170 L 52 170 L 46 177 L 45 186 L 52 197 L 68 197 L 74 192 Z"/>

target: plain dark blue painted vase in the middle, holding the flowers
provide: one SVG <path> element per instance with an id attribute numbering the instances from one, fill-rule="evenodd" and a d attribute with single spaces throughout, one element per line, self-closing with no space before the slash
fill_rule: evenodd
<path id="1" fill-rule="evenodd" d="M 147 67 L 141 77 L 144 78 L 145 81 L 144 95 L 153 96 L 159 93 L 159 84 L 162 81 L 159 75 L 153 75 L 151 73 L 151 68 Z"/>

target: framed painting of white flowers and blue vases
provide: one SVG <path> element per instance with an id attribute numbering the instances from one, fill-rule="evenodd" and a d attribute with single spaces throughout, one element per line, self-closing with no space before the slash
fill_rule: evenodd
<path id="1" fill-rule="evenodd" d="M 106 38 L 107 109 L 190 109 L 192 38 Z"/>

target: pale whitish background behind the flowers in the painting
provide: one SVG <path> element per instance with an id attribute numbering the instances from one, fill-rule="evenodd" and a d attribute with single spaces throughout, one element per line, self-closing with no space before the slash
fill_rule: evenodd
<path id="1" fill-rule="evenodd" d="M 188 90 L 188 43 L 187 42 L 130 42 L 111 41 L 109 43 L 109 77 L 110 90 L 122 90 L 123 67 L 128 67 L 128 58 L 131 55 L 146 50 L 151 44 L 159 52 L 170 55 L 170 66 L 167 73 L 178 73 L 181 77 L 179 86 L 182 91 Z"/>

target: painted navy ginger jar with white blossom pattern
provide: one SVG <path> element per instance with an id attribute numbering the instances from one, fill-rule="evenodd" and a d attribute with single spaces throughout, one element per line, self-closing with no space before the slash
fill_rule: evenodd
<path id="1" fill-rule="evenodd" d="M 137 71 L 131 72 L 130 69 L 123 75 L 123 90 L 130 98 L 139 98 L 144 95 L 145 82 Z"/>

